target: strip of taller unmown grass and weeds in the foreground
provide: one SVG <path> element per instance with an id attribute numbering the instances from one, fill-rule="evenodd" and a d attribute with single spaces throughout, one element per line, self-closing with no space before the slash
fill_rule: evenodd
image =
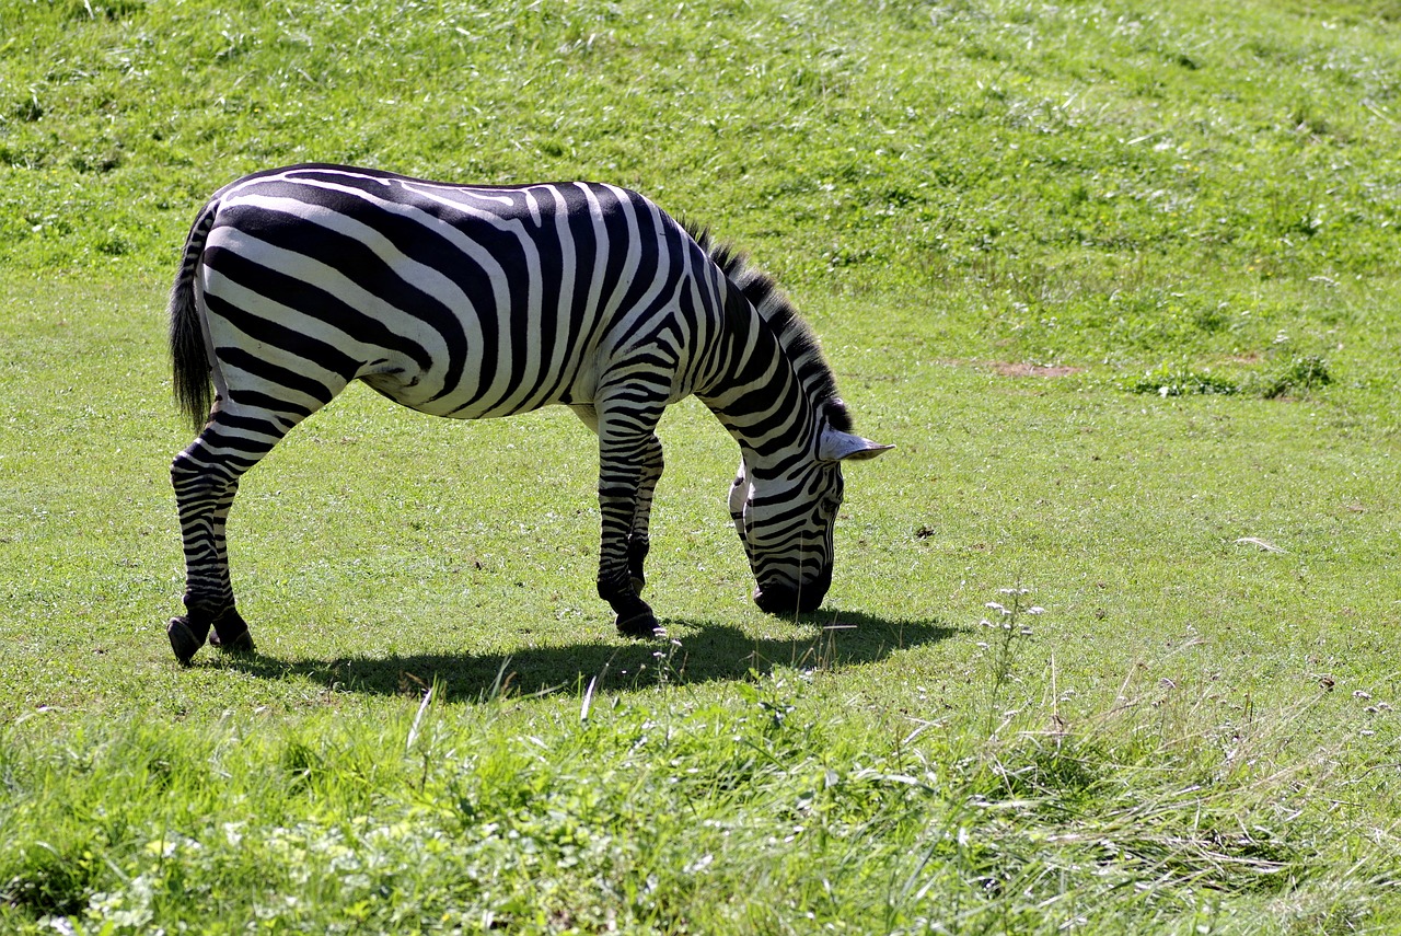
<path id="1" fill-rule="evenodd" d="M 780 670 L 729 701 L 658 685 L 586 717 L 525 719 L 497 695 L 350 723 L 11 733 L 0 918 L 92 933 L 1377 922 L 1394 852 L 1338 835 L 1327 757 L 1289 751 L 1307 709 L 1226 731 L 1126 685 L 1080 726 L 1031 705 L 991 737 L 958 716 L 873 734 L 820 691 L 832 678 Z"/>

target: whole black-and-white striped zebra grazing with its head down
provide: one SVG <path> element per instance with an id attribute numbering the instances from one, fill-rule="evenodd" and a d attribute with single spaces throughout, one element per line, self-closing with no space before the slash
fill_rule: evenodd
<path id="1" fill-rule="evenodd" d="M 821 604 L 839 462 L 888 448 L 852 434 L 771 279 L 611 185 L 258 172 L 195 220 L 170 329 L 177 401 L 199 430 L 171 467 L 181 663 L 206 639 L 252 650 L 224 545 L 238 479 L 352 380 L 455 419 L 572 408 L 598 436 L 598 596 L 630 636 L 657 628 L 639 593 L 668 404 L 695 394 L 740 444 L 730 513 L 771 612 Z"/>

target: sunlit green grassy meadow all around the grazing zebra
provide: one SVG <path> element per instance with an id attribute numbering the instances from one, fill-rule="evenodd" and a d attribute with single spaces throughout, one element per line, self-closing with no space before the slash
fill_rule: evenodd
<path id="1" fill-rule="evenodd" d="M 1401 929 L 1401 3 L 0 0 L 0 930 Z M 296 161 L 590 178 L 804 311 L 818 612 L 663 420 L 353 387 L 242 482 L 179 667 L 165 296 Z"/>

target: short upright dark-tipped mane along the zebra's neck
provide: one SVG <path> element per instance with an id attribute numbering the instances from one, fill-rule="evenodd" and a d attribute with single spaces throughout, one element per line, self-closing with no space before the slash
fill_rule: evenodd
<path id="1" fill-rule="evenodd" d="M 846 404 L 836 395 L 836 377 L 822 356 L 817 335 L 793 307 L 792 300 L 779 289 L 772 276 L 750 263 L 750 258 L 733 244 L 716 241 L 710 228 L 684 221 L 682 227 L 700 245 L 710 261 L 720 268 L 730 283 L 737 287 L 759 318 L 768 322 L 779 339 L 779 346 L 793 362 L 793 370 L 807 398 L 827 413 L 827 420 L 839 432 L 852 432 L 852 416 Z"/>

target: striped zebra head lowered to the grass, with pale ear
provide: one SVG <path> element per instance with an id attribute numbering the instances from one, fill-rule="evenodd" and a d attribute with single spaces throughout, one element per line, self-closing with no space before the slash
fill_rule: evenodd
<path id="1" fill-rule="evenodd" d="M 839 425 L 846 423 L 839 409 Z M 831 409 L 831 408 L 829 408 Z M 835 415 L 835 413 L 834 413 Z M 761 472 L 740 458 L 730 485 L 730 517 L 771 614 L 815 611 L 832 584 L 832 530 L 842 506 L 842 462 L 874 458 L 894 446 L 862 439 L 824 415 L 817 444 L 797 464 Z"/>

